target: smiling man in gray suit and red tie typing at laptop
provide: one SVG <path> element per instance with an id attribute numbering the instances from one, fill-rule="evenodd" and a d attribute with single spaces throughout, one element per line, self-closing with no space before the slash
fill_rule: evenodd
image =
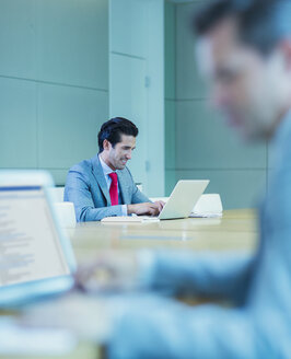
<path id="1" fill-rule="evenodd" d="M 112 118 L 98 132 L 100 153 L 70 169 L 63 199 L 74 204 L 77 221 L 160 213 L 163 204 L 151 202 L 138 189 L 126 166 L 137 136 L 138 128 L 130 120 Z"/>

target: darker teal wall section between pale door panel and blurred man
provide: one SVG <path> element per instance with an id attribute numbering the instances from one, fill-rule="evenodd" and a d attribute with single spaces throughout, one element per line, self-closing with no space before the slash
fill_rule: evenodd
<path id="1" fill-rule="evenodd" d="M 175 180 L 209 178 L 208 193 L 220 193 L 224 208 L 252 207 L 267 183 L 267 144 L 244 144 L 209 108 L 208 93 L 199 78 L 195 39 L 188 26 L 198 2 L 175 7 L 176 92 Z M 172 109 L 168 112 L 173 113 Z M 171 120 L 173 123 L 173 119 Z M 168 173 L 168 169 L 166 170 Z"/>

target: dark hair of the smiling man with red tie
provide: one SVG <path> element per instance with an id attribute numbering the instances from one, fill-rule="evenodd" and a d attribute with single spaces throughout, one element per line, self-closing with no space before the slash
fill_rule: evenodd
<path id="1" fill-rule="evenodd" d="M 129 119 L 124 117 L 110 118 L 101 126 L 98 132 L 100 152 L 104 150 L 103 141 L 108 140 L 113 147 L 121 141 L 121 135 L 137 137 L 139 129 Z"/>

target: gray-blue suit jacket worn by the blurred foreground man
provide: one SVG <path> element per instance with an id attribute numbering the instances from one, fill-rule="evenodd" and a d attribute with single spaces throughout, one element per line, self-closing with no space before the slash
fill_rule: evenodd
<path id="1" fill-rule="evenodd" d="M 221 298 L 235 306 L 191 308 L 162 297 L 129 302 L 115 322 L 109 358 L 291 358 L 291 113 L 271 148 L 254 256 L 160 251 L 142 265 L 141 278 L 153 290 Z"/>

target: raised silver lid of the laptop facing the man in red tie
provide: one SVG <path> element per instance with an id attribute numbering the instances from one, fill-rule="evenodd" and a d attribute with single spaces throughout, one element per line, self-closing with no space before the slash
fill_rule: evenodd
<path id="1" fill-rule="evenodd" d="M 209 180 L 181 180 L 174 187 L 159 219 L 189 217 L 194 206 L 205 192 Z"/>

